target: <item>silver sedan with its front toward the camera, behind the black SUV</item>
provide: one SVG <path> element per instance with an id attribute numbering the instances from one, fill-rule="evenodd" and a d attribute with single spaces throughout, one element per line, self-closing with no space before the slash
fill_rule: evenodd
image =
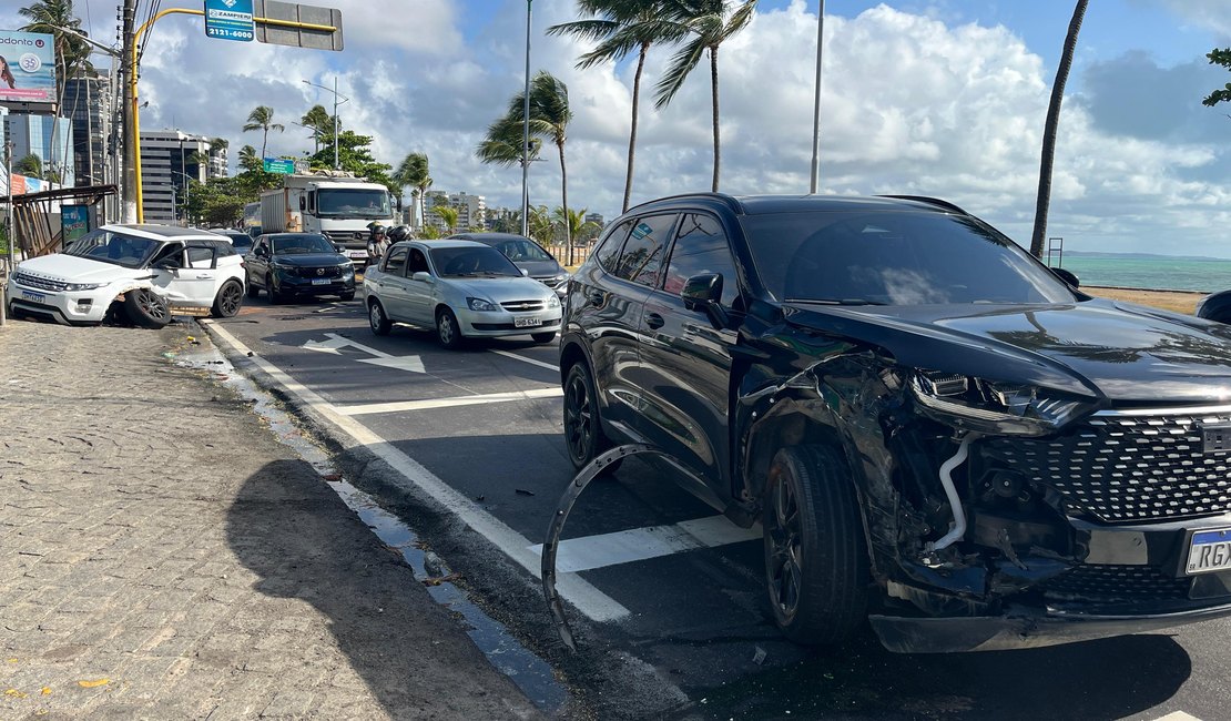
<path id="1" fill-rule="evenodd" d="M 470 240 L 412 240 L 390 246 L 363 274 L 372 332 L 395 322 L 436 329 L 446 348 L 467 338 L 529 335 L 549 343 L 560 330 L 560 299 L 496 249 Z"/>

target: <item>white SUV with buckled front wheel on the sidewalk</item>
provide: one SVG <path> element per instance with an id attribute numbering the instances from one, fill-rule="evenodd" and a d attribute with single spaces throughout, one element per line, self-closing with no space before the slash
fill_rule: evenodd
<path id="1" fill-rule="evenodd" d="M 243 300 L 243 258 L 227 240 L 153 224 L 103 225 L 64 252 L 22 261 L 5 293 L 11 315 L 66 325 L 111 314 L 161 327 L 172 313 L 230 317 Z"/>

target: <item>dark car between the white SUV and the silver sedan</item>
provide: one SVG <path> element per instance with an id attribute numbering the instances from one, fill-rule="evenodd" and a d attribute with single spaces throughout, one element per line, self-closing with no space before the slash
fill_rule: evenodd
<path id="1" fill-rule="evenodd" d="M 270 303 L 294 295 L 355 298 L 355 265 L 319 233 L 270 233 L 247 255 L 247 294 Z"/>

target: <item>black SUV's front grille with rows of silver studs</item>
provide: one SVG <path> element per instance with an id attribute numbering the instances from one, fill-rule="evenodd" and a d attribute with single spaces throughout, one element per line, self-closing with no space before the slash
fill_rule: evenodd
<path id="1" fill-rule="evenodd" d="M 984 452 L 1103 520 L 1192 518 L 1231 511 L 1231 454 L 1203 453 L 1200 428 L 1227 422 L 1222 408 L 1096 415 L 1060 438 L 996 438 Z"/>

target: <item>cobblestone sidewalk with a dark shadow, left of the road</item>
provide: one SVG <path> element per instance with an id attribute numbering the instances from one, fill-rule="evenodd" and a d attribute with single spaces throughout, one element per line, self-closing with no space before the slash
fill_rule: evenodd
<path id="1" fill-rule="evenodd" d="M 0 327 L 0 719 L 538 716 L 193 329 Z"/>

